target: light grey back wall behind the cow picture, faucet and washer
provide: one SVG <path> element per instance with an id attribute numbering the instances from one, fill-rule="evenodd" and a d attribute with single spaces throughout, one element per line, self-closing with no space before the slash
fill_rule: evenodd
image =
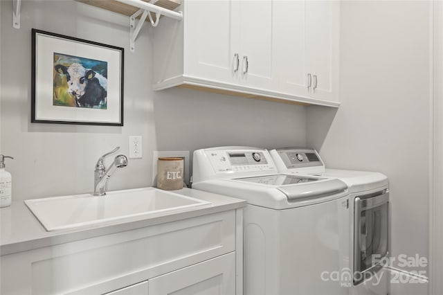
<path id="1" fill-rule="evenodd" d="M 154 28 L 145 26 L 129 52 L 129 18 L 74 1 L 23 1 L 21 29 L 12 1 L 1 5 L 0 152 L 12 173 L 12 199 L 86 193 L 100 155 L 128 136 L 143 136 L 143 159 L 129 159 L 109 189 L 151 186 L 154 150 L 215 145 L 305 145 L 305 107 L 186 89 L 151 90 Z M 125 126 L 30 123 L 31 28 L 125 48 Z M 287 135 L 289 134 L 289 136 Z"/>

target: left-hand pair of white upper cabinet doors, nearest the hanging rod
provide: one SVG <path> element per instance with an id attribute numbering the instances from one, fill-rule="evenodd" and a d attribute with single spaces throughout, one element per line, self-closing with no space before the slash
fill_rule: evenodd
<path id="1" fill-rule="evenodd" d="M 185 1 L 184 72 L 212 82 L 271 85 L 271 1 Z"/>

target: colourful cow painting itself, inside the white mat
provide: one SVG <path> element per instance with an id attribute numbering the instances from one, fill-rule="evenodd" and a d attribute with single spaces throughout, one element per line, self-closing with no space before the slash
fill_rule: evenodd
<path id="1" fill-rule="evenodd" d="M 54 53 L 53 105 L 107 109 L 107 62 Z"/>

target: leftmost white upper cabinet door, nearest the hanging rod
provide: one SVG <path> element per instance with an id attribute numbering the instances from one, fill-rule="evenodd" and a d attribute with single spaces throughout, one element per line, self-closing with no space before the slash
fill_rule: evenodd
<path id="1" fill-rule="evenodd" d="M 217 82 L 237 81 L 235 53 L 239 53 L 233 50 L 237 25 L 231 21 L 231 1 L 193 0 L 184 1 L 184 5 L 185 75 Z"/>

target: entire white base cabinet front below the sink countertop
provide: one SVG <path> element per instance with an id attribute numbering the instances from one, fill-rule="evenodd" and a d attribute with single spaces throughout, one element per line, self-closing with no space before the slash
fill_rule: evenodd
<path id="1" fill-rule="evenodd" d="M 237 209 L 13 253 L 0 293 L 242 294 L 242 235 Z"/>

